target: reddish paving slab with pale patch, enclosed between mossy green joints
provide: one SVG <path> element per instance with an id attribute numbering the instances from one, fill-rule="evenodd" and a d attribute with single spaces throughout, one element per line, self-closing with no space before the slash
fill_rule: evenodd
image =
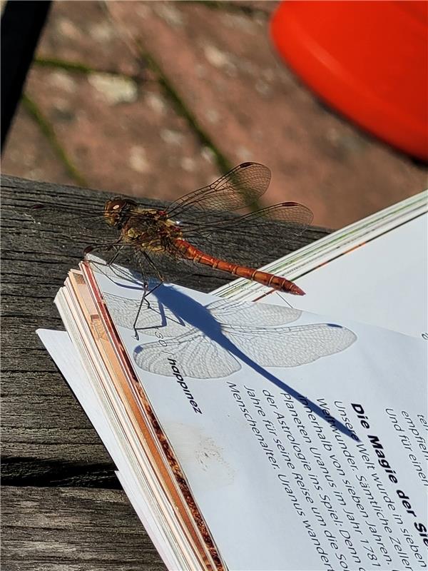
<path id="1" fill-rule="evenodd" d="M 36 69 L 27 91 L 89 186 L 172 200 L 218 175 L 156 83 Z"/>

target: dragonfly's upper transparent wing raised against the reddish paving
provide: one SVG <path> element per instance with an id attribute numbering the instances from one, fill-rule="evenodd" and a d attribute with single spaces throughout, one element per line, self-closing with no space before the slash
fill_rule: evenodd
<path id="1" fill-rule="evenodd" d="M 255 203 L 270 183 L 270 170 L 259 163 L 242 163 L 217 181 L 185 194 L 168 207 L 170 218 L 182 218 L 194 208 L 198 211 L 235 211 Z M 211 216 L 212 213 L 207 213 Z"/>

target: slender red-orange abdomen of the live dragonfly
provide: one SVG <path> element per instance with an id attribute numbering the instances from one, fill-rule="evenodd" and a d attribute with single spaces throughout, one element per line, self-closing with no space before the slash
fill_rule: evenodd
<path id="1" fill-rule="evenodd" d="M 198 250 L 198 248 L 195 248 L 195 246 L 192 246 L 185 240 L 176 240 L 175 246 L 180 251 L 181 256 L 188 260 L 203 263 L 205 266 L 210 266 L 211 268 L 223 272 L 233 273 L 234 276 L 238 276 L 239 278 L 246 278 L 248 280 L 257 281 L 258 283 L 263 283 L 263 285 L 267 285 L 275 290 L 288 291 L 295 293 L 295 295 L 305 295 L 305 292 L 301 290 L 298 285 L 292 283 L 292 281 L 280 278 L 280 276 L 274 276 L 272 273 L 262 272 L 254 268 L 245 268 L 245 266 L 240 266 L 236 263 L 225 262 L 219 258 L 214 258 L 214 256 L 205 254 L 205 252 Z"/>

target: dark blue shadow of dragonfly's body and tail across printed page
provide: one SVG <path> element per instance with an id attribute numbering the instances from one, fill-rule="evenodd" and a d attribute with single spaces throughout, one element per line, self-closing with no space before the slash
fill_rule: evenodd
<path id="1" fill-rule="evenodd" d="M 245 365 L 248 365 L 252 368 L 255 373 L 258 373 L 266 380 L 269 380 L 270 383 L 276 385 L 280 390 L 286 391 L 292 398 L 299 400 L 305 400 L 307 403 L 308 408 L 310 408 L 311 412 L 317 415 L 319 418 L 327 422 L 325 417 L 324 410 L 317 405 L 316 403 L 312 402 L 312 400 L 305 397 L 299 393 L 299 391 L 295 390 L 294 388 L 287 385 L 283 380 L 280 380 L 275 375 L 272 375 L 268 370 L 260 366 L 256 363 L 252 358 L 248 355 L 243 353 L 240 348 L 238 348 L 226 335 L 223 333 L 222 325 L 215 319 L 212 313 L 208 311 L 202 304 L 198 303 L 198 301 L 190 298 L 188 295 L 185 295 L 182 291 L 179 291 L 171 286 L 165 287 L 161 285 L 156 291 L 153 292 L 153 296 L 156 297 L 159 303 L 159 307 L 164 306 L 168 308 L 170 312 L 176 315 L 177 318 L 187 322 L 189 325 L 192 325 L 194 328 L 199 330 L 206 338 L 212 340 L 215 343 L 218 343 L 220 347 L 224 350 L 228 351 L 231 355 L 234 355 L 236 358 L 240 359 Z M 340 420 L 335 420 L 335 425 L 337 430 L 340 430 L 341 433 L 345 434 L 347 437 L 352 438 L 352 440 L 359 441 L 360 439 L 357 435 L 352 431 L 349 430 Z"/>

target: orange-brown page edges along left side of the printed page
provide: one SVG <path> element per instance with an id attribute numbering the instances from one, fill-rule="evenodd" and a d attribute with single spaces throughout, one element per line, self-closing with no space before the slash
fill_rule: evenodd
<path id="1" fill-rule="evenodd" d="M 224 571 L 225 565 L 210 535 L 203 516 L 190 492 L 180 465 L 163 434 L 156 415 L 138 382 L 126 351 L 113 325 L 111 317 L 96 285 L 88 263 L 81 263 L 81 271 L 70 274 L 70 283 L 79 300 L 93 340 L 98 346 L 103 362 L 109 370 L 119 398 L 125 406 L 128 418 L 148 455 L 153 472 L 170 497 L 171 505 L 179 517 L 181 526 L 193 550 L 207 570 Z M 84 277 L 83 277 L 84 276 Z"/>

